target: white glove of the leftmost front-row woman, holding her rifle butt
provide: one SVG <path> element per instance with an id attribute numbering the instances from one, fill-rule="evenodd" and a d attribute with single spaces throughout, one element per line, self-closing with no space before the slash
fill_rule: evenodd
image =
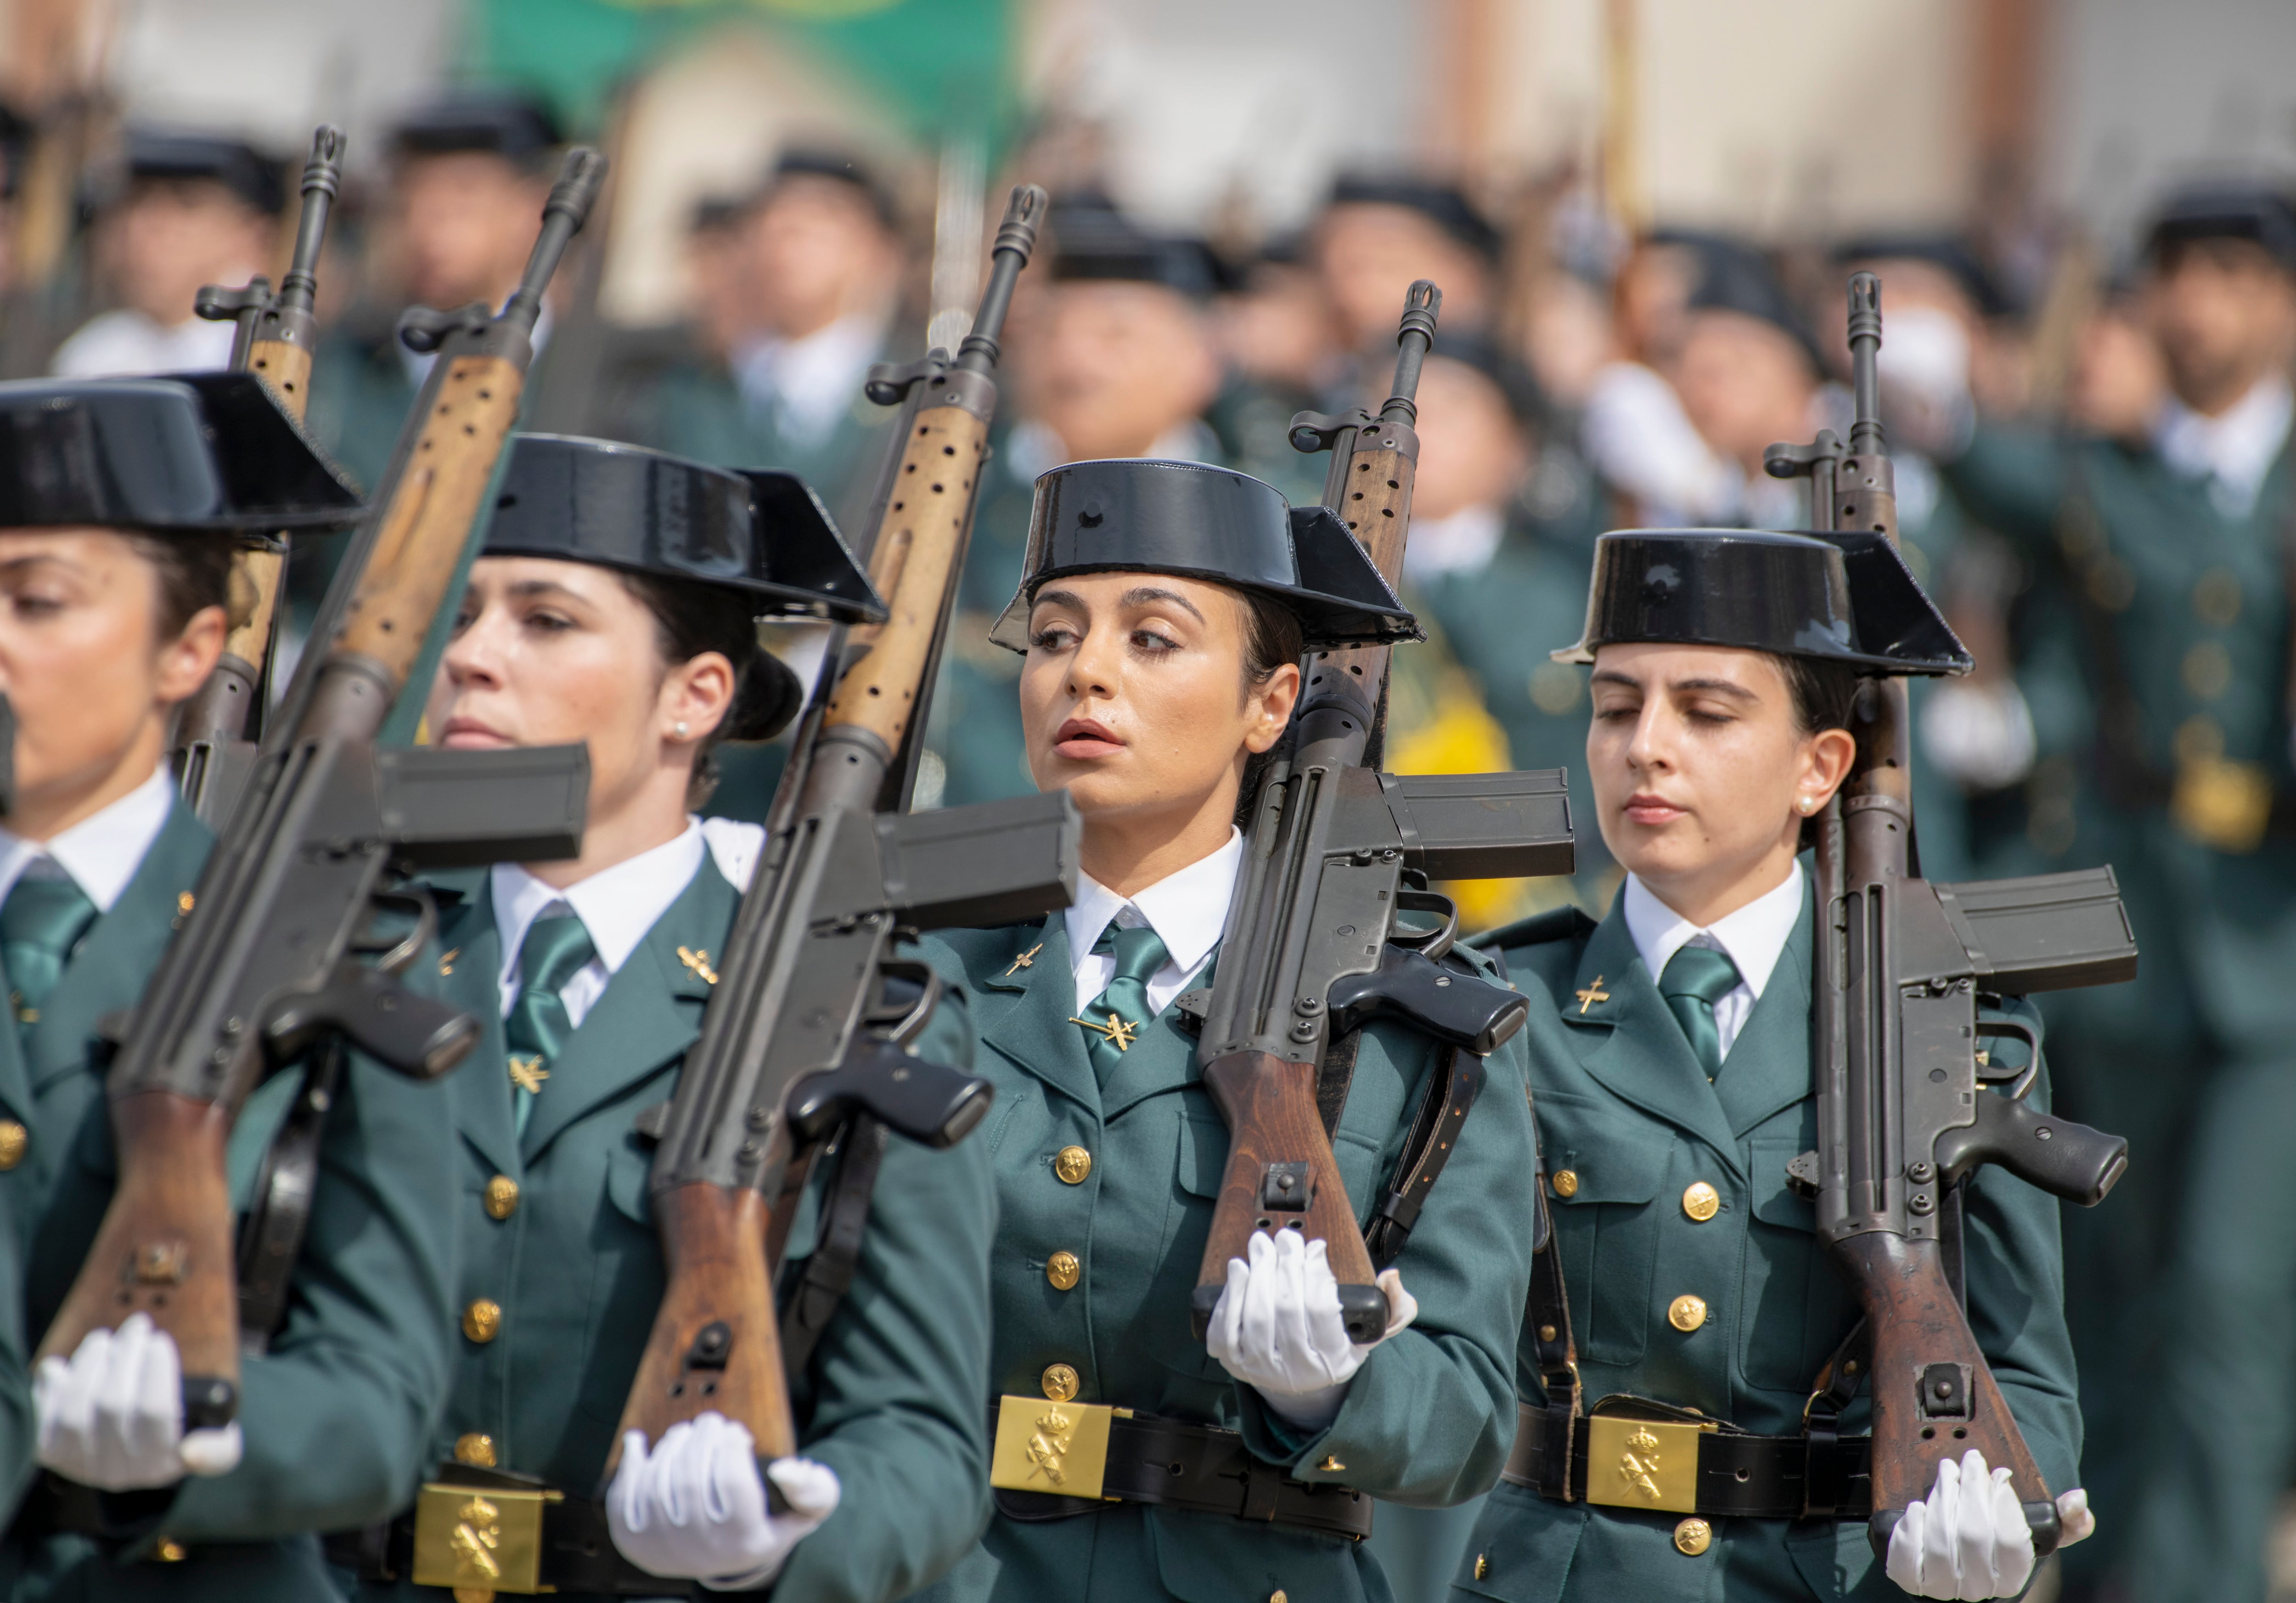
<path id="1" fill-rule="evenodd" d="M 90 1330 L 69 1360 L 32 1376 L 39 1461 L 69 1481 L 124 1493 L 239 1468 L 239 1422 L 184 1433 L 184 1364 L 149 1314 Z"/>

